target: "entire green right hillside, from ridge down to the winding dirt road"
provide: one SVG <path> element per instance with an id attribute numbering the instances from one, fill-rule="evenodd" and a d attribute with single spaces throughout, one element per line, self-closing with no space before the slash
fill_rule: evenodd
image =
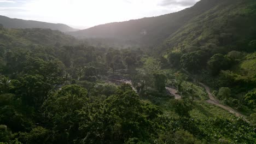
<path id="1" fill-rule="evenodd" d="M 248 112 L 246 93 L 256 90 L 256 2 L 223 3 L 195 17 L 157 50 L 172 67 L 188 70 L 213 89 L 231 89 L 228 97 L 216 96 Z"/>

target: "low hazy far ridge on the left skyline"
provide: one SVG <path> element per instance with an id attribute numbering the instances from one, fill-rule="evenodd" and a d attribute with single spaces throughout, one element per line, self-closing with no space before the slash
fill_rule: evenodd
<path id="1" fill-rule="evenodd" d="M 1 16 L 1 15 L 0 15 L 0 23 L 5 28 L 49 28 L 52 30 L 59 30 L 61 32 L 72 32 L 72 31 L 78 30 L 61 23 L 48 23 L 48 22 L 41 22 L 41 21 L 11 19 L 9 17 Z"/>

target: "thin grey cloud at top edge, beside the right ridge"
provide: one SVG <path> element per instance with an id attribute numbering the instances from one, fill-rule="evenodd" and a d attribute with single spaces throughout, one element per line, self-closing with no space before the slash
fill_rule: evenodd
<path id="1" fill-rule="evenodd" d="M 168 6 L 168 5 L 181 5 L 183 7 L 188 7 L 194 5 L 197 0 L 163 0 L 159 3 L 160 6 Z"/>

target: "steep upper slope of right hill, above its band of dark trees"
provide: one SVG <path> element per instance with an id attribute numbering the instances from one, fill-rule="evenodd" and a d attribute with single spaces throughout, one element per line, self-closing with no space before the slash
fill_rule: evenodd
<path id="1" fill-rule="evenodd" d="M 211 54 L 248 51 L 248 44 L 256 39 L 255 25 L 255 1 L 225 0 L 172 33 L 158 50 L 207 50 Z"/>

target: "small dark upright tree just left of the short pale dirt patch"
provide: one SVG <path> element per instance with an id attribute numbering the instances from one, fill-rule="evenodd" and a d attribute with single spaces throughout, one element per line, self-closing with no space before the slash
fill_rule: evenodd
<path id="1" fill-rule="evenodd" d="M 167 82 L 167 77 L 164 74 L 153 74 L 154 75 L 154 84 L 155 88 L 159 92 L 163 92 L 165 90 L 165 85 Z"/>

